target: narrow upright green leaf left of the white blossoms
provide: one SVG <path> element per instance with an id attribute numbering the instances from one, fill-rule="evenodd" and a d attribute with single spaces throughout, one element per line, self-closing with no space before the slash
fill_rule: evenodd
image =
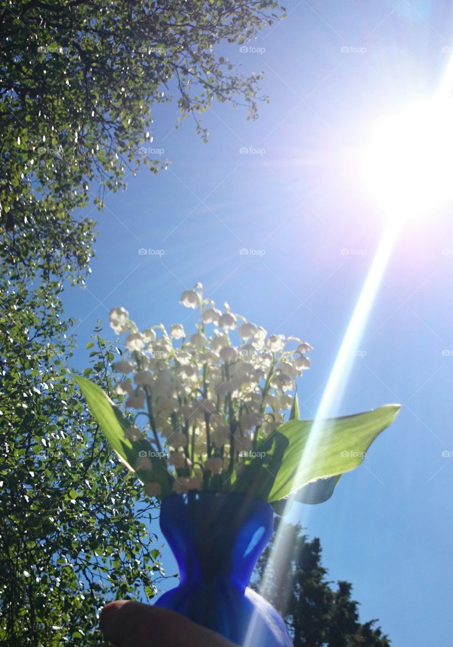
<path id="1" fill-rule="evenodd" d="M 144 438 L 132 440 L 127 437 L 127 430 L 133 426 L 132 422 L 123 415 L 100 386 L 80 375 L 72 375 L 72 378 L 85 396 L 89 410 L 120 461 L 131 472 L 135 472 L 143 483 L 160 483 L 162 496 L 171 494 L 173 479 L 170 472 L 162 465 L 160 458 L 153 455 L 156 449 L 151 443 Z M 136 469 L 137 461 L 144 457 L 148 457 L 151 461 L 151 470 L 140 467 Z"/>

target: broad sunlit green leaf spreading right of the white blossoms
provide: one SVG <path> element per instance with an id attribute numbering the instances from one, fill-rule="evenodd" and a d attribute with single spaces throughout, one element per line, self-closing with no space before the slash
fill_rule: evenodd
<path id="1" fill-rule="evenodd" d="M 289 441 L 278 476 L 268 501 L 278 501 L 297 492 L 310 481 L 338 476 L 359 466 L 375 438 L 392 424 L 399 404 L 356 415 L 329 418 L 316 422 L 316 441 L 309 448 L 308 439 L 314 426 L 312 420 L 292 420 L 278 429 Z M 301 461 L 308 448 L 312 455 Z"/>

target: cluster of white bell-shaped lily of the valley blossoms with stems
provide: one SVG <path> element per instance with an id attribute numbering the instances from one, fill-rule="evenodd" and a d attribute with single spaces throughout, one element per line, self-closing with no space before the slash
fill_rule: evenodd
<path id="1" fill-rule="evenodd" d="M 183 292 L 181 303 L 200 309 L 193 334 L 179 323 L 140 332 L 124 308 L 110 313 L 115 332 L 128 333 L 125 358 L 113 365 L 123 375 L 115 391 L 127 395 L 126 408 L 145 411 L 160 449 L 163 439 L 175 492 L 228 480 L 289 414 L 294 379 L 309 368 L 312 350 L 295 337 L 268 336 L 227 303 L 217 309 L 203 300 L 199 283 Z M 159 494 L 159 484 L 147 491 Z"/>

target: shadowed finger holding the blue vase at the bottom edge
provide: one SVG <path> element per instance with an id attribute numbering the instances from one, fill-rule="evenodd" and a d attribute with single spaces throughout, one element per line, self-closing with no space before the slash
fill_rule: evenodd
<path id="1" fill-rule="evenodd" d="M 116 647 L 237 647 L 175 611 L 129 600 L 107 604 L 99 624 Z"/>

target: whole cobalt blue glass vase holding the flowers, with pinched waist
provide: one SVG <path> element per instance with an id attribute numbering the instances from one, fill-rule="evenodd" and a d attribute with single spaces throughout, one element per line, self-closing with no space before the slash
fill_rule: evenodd
<path id="1" fill-rule="evenodd" d="M 217 631 L 241 647 L 292 647 L 277 611 L 249 587 L 272 535 L 272 508 L 237 492 L 172 494 L 160 529 L 179 566 L 179 586 L 156 604 Z"/>

